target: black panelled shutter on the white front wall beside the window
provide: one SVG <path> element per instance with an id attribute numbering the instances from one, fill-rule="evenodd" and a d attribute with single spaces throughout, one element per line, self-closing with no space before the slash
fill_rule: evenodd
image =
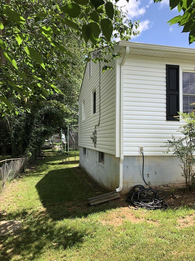
<path id="1" fill-rule="evenodd" d="M 178 121 L 173 116 L 179 111 L 179 65 L 166 65 L 167 121 Z"/>

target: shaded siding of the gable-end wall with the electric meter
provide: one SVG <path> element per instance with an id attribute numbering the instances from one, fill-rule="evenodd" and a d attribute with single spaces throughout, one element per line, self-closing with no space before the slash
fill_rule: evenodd
<path id="1" fill-rule="evenodd" d="M 111 65 L 115 68 L 115 61 Z M 102 73 L 101 62 L 101 118 L 97 130 L 96 148 L 90 139 L 99 121 L 99 63 L 92 64 L 88 78 L 88 64 L 79 96 L 79 146 L 115 155 L 115 69 Z M 92 92 L 96 89 L 96 114 L 92 113 Z M 85 120 L 82 121 L 82 103 L 85 101 Z"/>

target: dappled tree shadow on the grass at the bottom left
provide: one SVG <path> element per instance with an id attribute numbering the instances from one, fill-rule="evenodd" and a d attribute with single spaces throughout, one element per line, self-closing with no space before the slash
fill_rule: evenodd
<path id="1" fill-rule="evenodd" d="M 90 235 L 87 226 L 71 226 L 68 222 L 54 222 L 45 211 L 39 212 L 23 223 L 15 236 L 0 237 L 0 260 L 38 260 L 40 255 L 58 249 L 63 251 L 75 244 L 81 247 L 83 238 Z M 42 260 L 42 259 L 41 259 Z M 47 258 L 45 260 L 48 260 Z"/>

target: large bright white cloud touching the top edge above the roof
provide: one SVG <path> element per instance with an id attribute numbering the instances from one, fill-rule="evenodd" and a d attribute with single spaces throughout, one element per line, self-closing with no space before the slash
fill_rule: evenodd
<path id="1" fill-rule="evenodd" d="M 127 3 L 126 0 L 119 0 L 117 6 L 122 7 L 123 10 L 128 11 L 128 18 L 132 19 L 133 17 L 140 17 L 146 12 L 145 7 L 140 8 L 141 1 L 131 0 Z"/>

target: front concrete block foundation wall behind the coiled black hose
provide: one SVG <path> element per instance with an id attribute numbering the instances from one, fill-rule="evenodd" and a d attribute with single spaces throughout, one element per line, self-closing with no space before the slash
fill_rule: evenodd
<path id="1" fill-rule="evenodd" d="M 151 187 L 184 182 L 179 164 L 175 156 L 144 156 L 144 179 Z M 129 192 L 134 185 L 145 186 L 142 166 L 142 156 L 124 157 L 122 194 Z"/>

